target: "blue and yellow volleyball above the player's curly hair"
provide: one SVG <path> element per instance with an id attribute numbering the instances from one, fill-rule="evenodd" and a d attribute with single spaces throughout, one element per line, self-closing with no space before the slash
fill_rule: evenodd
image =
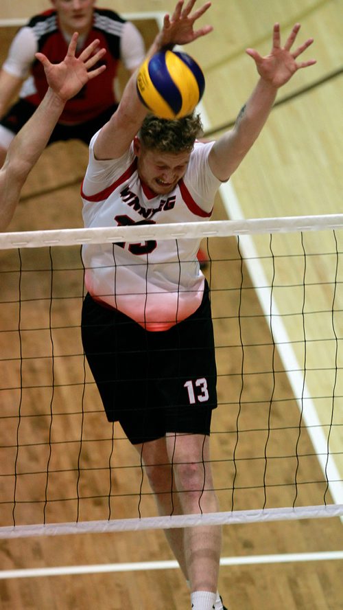
<path id="1" fill-rule="evenodd" d="M 137 76 L 141 102 L 162 119 L 180 119 L 191 114 L 204 88 L 202 69 L 183 52 L 155 53 L 141 65 Z"/>

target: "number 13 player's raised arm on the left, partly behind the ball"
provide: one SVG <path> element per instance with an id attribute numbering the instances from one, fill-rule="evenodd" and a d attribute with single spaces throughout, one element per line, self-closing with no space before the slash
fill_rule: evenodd
<path id="1" fill-rule="evenodd" d="M 196 21 L 208 10 L 211 2 L 206 2 L 201 8 L 193 11 L 196 0 L 189 0 L 184 8 L 184 1 L 178 0 L 174 13 L 165 15 L 163 27 L 152 43 L 147 57 L 174 45 L 186 45 L 205 36 L 212 31 L 211 25 L 194 29 Z M 94 146 L 97 159 L 118 159 L 121 157 L 137 135 L 141 124 L 147 115 L 147 109 L 137 95 L 137 71 L 131 76 L 123 91 L 117 111 L 104 125 Z"/>

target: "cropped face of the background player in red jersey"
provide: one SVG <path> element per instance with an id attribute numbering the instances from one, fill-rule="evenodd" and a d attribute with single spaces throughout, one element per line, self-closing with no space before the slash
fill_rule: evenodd
<path id="1" fill-rule="evenodd" d="M 51 0 L 60 26 L 67 34 L 84 34 L 91 28 L 95 0 Z"/>

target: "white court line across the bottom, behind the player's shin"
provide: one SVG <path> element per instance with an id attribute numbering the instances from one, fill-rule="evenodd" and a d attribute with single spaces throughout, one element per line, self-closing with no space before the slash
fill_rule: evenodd
<path id="1" fill-rule="evenodd" d="M 255 555 L 249 557 L 222 557 L 220 565 L 261 565 L 265 563 L 297 563 L 301 561 L 343 560 L 343 551 L 321 553 L 287 553 L 279 555 Z M 104 563 L 97 565 L 65 565 L 8 569 L 0 572 L 5 578 L 37 578 L 42 576 L 67 576 L 68 574 L 104 574 L 106 572 L 139 572 L 154 569 L 180 569 L 177 561 L 139 561 L 137 563 Z"/>

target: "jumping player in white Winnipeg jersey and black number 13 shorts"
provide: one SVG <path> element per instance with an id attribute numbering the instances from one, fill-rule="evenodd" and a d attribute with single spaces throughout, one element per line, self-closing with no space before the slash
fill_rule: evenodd
<path id="1" fill-rule="evenodd" d="M 193 25 L 210 3 L 196 0 L 165 16 L 150 54 L 211 31 Z M 82 187 L 86 227 L 187 223 L 211 217 L 215 192 L 255 142 L 276 98 L 311 45 L 292 51 L 295 25 L 281 46 L 254 49 L 259 80 L 236 124 L 217 142 L 196 142 L 200 118 L 168 121 L 147 114 L 132 78 L 117 112 L 95 134 Z M 215 392 L 211 305 L 196 260 L 197 239 L 86 245 L 88 295 L 82 311 L 84 350 L 106 416 L 119 420 L 137 449 L 161 515 L 216 512 L 209 435 Z M 217 526 L 167 530 L 191 588 L 193 610 L 222 609 L 217 594 L 221 532 Z"/>

